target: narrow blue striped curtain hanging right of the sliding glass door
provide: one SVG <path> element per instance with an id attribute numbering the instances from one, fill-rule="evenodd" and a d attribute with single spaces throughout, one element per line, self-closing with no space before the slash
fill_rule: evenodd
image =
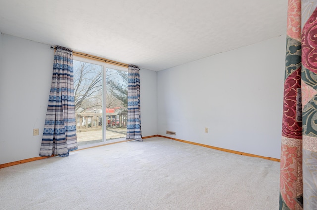
<path id="1" fill-rule="evenodd" d="M 142 141 L 139 67 L 129 65 L 128 77 L 128 123 L 126 140 Z"/>

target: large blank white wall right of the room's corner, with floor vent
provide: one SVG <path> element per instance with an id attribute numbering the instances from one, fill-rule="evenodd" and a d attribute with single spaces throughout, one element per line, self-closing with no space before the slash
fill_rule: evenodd
<path id="1" fill-rule="evenodd" d="M 159 134 L 280 158 L 285 47 L 281 36 L 158 72 Z"/>

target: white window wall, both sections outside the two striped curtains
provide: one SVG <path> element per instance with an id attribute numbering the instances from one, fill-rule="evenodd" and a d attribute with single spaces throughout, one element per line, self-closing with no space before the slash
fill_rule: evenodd
<path id="1" fill-rule="evenodd" d="M 53 72 L 49 45 L 0 37 L 0 164 L 38 157 Z M 157 134 L 156 72 L 141 69 L 143 136 Z M 33 136 L 39 128 L 39 136 Z"/>

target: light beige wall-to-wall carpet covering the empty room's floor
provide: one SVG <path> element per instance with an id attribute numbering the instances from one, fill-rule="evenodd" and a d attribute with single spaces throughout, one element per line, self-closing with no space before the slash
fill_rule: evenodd
<path id="1" fill-rule="evenodd" d="M 2 210 L 277 210 L 279 163 L 154 137 L 0 169 Z"/>

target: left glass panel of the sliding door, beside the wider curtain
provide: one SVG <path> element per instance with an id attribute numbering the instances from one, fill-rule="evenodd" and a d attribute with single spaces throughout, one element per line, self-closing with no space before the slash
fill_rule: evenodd
<path id="1" fill-rule="evenodd" d="M 78 146 L 103 142 L 103 66 L 74 60 Z"/>

